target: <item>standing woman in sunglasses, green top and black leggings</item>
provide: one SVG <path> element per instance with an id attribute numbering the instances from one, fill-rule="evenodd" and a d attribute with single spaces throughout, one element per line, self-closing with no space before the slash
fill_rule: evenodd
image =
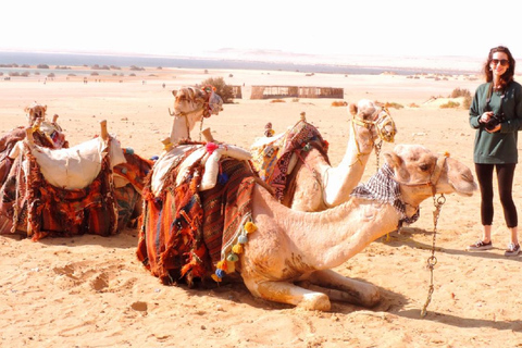
<path id="1" fill-rule="evenodd" d="M 493 172 L 497 173 L 498 195 L 510 243 L 506 256 L 520 252 L 518 214 L 512 197 L 518 162 L 518 132 L 522 127 L 522 86 L 513 80 L 514 59 L 507 47 L 495 47 L 484 64 L 486 83 L 478 86 L 470 108 L 470 125 L 476 129 L 473 161 L 481 188 L 482 239 L 468 250 L 488 250 L 493 224 Z"/>

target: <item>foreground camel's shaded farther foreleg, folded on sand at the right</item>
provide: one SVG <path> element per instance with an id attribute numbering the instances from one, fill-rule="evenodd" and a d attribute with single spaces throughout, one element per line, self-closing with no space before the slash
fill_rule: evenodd
<path id="1" fill-rule="evenodd" d="M 332 300 L 366 308 L 374 307 L 381 300 L 381 294 L 376 286 L 351 279 L 332 270 L 315 271 L 308 281 L 316 285 L 310 286 L 310 289 L 321 291 Z"/>

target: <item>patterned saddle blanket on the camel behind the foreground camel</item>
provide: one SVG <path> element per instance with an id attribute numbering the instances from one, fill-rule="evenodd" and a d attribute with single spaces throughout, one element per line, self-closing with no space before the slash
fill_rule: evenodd
<path id="1" fill-rule="evenodd" d="M 327 159 L 328 142 L 323 139 L 318 128 L 306 121 L 299 121 L 284 134 L 266 139 L 271 141 L 252 146 L 252 164 L 261 179 L 274 189 L 275 198 L 279 201 L 283 200 L 288 185 L 288 169 L 293 154 L 304 158 L 306 153 L 315 147 Z"/>

